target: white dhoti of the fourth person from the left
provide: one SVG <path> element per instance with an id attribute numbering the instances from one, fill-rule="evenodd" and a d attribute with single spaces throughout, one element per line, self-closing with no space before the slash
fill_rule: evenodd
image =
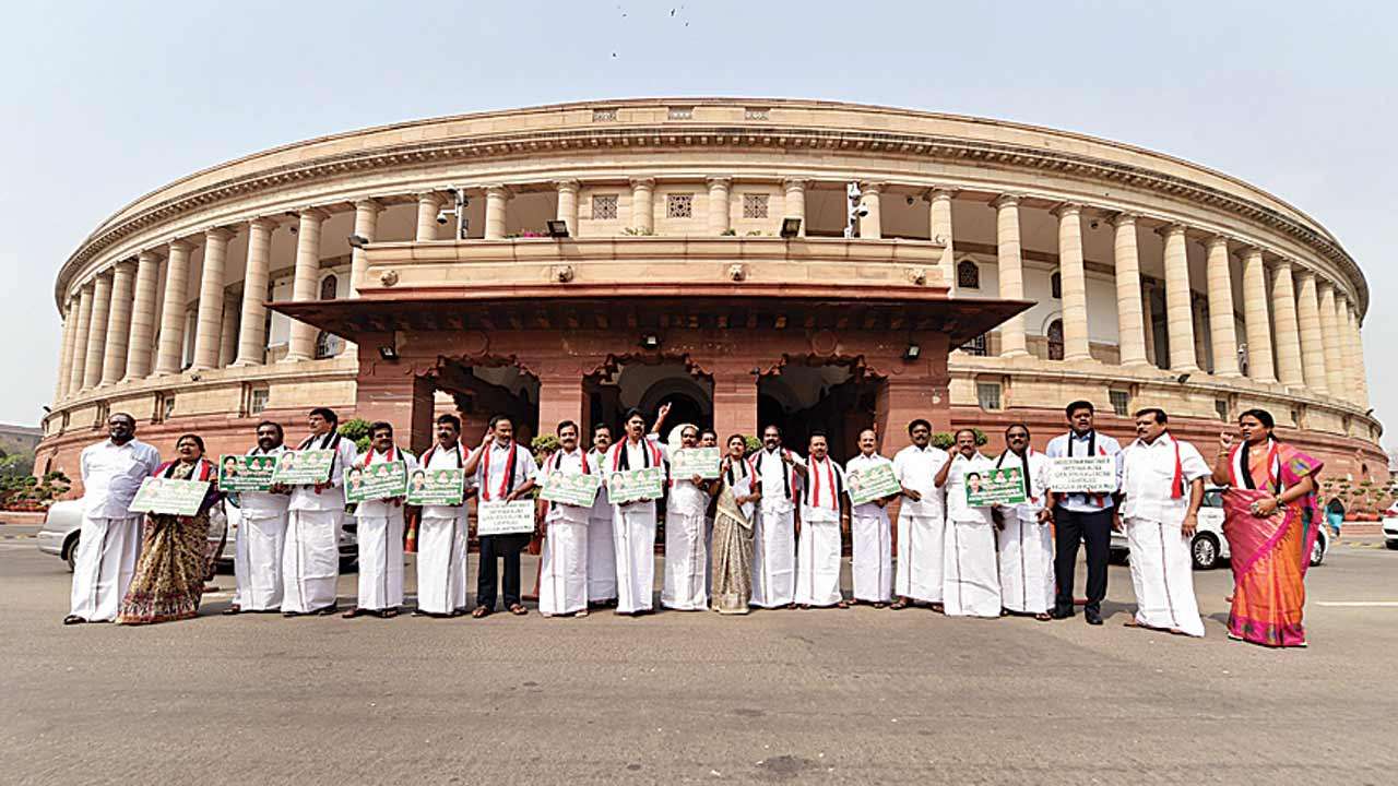
<path id="1" fill-rule="evenodd" d="M 336 604 L 344 510 L 291 510 L 281 554 L 281 610 L 308 614 Z"/>

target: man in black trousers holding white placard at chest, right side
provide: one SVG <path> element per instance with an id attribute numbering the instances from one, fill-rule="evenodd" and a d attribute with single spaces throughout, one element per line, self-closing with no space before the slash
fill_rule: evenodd
<path id="1" fill-rule="evenodd" d="M 1082 615 L 1102 624 L 1102 599 L 1107 596 L 1107 558 L 1111 555 L 1113 494 L 1117 490 L 1117 455 L 1121 445 L 1093 428 L 1092 401 L 1074 401 L 1064 410 L 1068 434 L 1048 441 L 1048 487 L 1054 492 L 1054 620 L 1072 617 L 1074 572 L 1078 543 L 1088 545 L 1088 603 Z"/>

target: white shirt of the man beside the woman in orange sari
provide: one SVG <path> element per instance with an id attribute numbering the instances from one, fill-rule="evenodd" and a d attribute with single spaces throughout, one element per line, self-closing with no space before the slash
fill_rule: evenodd
<path id="1" fill-rule="evenodd" d="M 1176 446 L 1184 488 L 1180 496 L 1173 498 Z M 1128 445 L 1121 452 L 1120 467 L 1117 487 L 1124 495 L 1121 515 L 1176 526 L 1184 522 L 1184 515 L 1190 510 L 1190 483 L 1212 473 L 1192 445 L 1174 439 L 1169 432 L 1149 445 L 1141 439 Z"/>

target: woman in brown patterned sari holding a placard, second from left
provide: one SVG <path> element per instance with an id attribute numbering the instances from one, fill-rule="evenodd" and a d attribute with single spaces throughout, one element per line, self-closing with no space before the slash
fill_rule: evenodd
<path id="1" fill-rule="evenodd" d="M 157 467 L 152 477 L 214 481 L 218 470 L 204 459 L 204 441 L 186 434 L 175 442 L 179 459 Z M 187 620 L 199 611 L 208 572 L 208 510 L 222 498 L 218 484 L 193 516 L 151 513 L 145 520 L 141 558 L 116 618 L 123 625 Z"/>

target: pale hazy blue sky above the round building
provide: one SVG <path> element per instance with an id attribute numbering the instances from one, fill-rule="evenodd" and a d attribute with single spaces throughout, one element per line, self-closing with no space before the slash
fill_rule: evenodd
<path id="1" fill-rule="evenodd" d="M 1001 117 L 1257 183 L 1328 227 L 1369 277 L 1383 418 L 1398 413 L 1395 29 L 1398 4 L 1343 0 L 13 3 L 0 421 L 38 422 L 57 365 L 55 271 L 134 197 L 319 134 L 649 95 Z"/>

